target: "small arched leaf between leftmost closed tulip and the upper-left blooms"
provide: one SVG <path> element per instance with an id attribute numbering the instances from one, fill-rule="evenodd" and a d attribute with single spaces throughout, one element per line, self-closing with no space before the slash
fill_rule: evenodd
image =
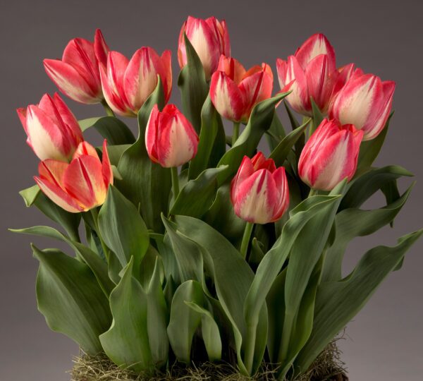
<path id="1" fill-rule="evenodd" d="M 107 139 L 109 145 L 132 144 L 135 142 L 132 131 L 115 116 L 83 119 L 79 123 L 82 131 L 94 127 L 104 139 Z"/>

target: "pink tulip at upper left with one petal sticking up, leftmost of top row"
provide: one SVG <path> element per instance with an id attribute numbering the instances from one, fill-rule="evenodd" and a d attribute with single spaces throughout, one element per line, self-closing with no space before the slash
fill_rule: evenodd
<path id="1" fill-rule="evenodd" d="M 47 75 L 63 94 L 76 102 L 100 103 L 103 100 L 99 63 L 106 64 L 109 47 L 97 29 L 94 43 L 75 38 L 66 46 L 62 59 L 44 59 Z"/>

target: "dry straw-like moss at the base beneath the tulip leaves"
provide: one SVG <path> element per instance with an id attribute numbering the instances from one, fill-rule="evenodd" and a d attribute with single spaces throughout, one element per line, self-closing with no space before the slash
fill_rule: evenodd
<path id="1" fill-rule="evenodd" d="M 71 370 L 71 381 L 271 381 L 274 378 L 274 367 L 264 364 L 255 377 L 248 378 L 237 373 L 231 365 L 202 363 L 191 367 L 173 365 L 167 373 L 155 377 L 136 375 L 118 368 L 106 356 L 81 355 L 74 358 Z M 288 381 L 288 380 L 286 380 Z M 341 351 L 333 341 L 314 361 L 307 373 L 296 380 L 289 381 L 348 381 L 345 375 L 345 364 L 341 361 Z"/>

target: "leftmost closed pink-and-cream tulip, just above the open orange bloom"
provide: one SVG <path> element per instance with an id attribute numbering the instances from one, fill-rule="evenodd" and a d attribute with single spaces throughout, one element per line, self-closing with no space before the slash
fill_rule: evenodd
<path id="1" fill-rule="evenodd" d="M 45 94 L 39 104 L 16 110 L 27 144 L 41 160 L 68 162 L 84 140 L 78 121 L 59 94 Z"/>

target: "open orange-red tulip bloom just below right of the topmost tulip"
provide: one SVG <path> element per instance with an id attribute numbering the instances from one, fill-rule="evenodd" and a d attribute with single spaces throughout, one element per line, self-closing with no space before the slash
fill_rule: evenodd
<path id="1" fill-rule="evenodd" d="M 266 63 L 246 71 L 236 59 L 221 56 L 212 75 L 210 98 L 226 119 L 247 122 L 252 108 L 271 97 L 273 73 Z"/>

